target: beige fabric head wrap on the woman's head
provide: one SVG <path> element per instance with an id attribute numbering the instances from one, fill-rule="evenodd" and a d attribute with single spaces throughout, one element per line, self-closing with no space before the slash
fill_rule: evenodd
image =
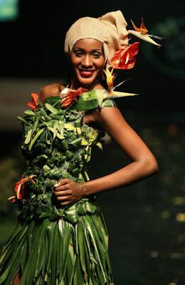
<path id="1" fill-rule="evenodd" d="M 70 56 L 76 41 L 94 38 L 103 43 L 106 60 L 114 55 L 121 46 L 128 44 L 127 22 L 121 11 L 107 13 L 100 18 L 84 17 L 75 21 L 65 37 L 65 53 Z"/>

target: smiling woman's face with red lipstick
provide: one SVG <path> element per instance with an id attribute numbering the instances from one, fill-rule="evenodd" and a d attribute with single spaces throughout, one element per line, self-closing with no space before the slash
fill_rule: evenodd
<path id="1" fill-rule="evenodd" d="M 102 75 L 105 56 L 102 43 L 92 38 L 79 40 L 73 46 L 70 56 L 74 81 L 77 86 L 94 86 Z"/>

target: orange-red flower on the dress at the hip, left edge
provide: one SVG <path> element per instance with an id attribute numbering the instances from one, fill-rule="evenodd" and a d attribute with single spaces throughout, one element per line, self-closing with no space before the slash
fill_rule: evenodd
<path id="1" fill-rule="evenodd" d="M 33 177 L 36 177 L 36 175 L 30 175 L 26 178 L 22 175 L 21 180 L 18 180 L 16 182 L 16 186 L 14 188 L 14 191 L 16 192 L 16 196 L 9 197 L 9 200 L 11 200 L 11 203 L 15 203 L 18 199 L 23 199 L 24 197 L 24 190 L 25 190 L 25 182 L 31 181 L 33 184 L 35 181 L 33 180 Z"/>

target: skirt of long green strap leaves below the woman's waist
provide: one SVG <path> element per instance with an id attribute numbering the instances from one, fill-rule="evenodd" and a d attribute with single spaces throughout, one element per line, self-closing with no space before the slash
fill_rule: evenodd
<path id="1" fill-rule="evenodd" d="M 100 207 L 82 199 L 55 221 L 18 222 L 1 253 L 0 284 L 19 272 L 20 285 L 112 285 L 107 249 Z"/>

